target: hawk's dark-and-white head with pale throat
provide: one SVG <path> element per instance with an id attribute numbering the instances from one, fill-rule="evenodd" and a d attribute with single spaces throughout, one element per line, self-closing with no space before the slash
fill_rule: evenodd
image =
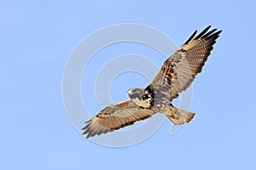
<path id="1" fill-rule="evenodd" d="M 154 103 L 154 93 L 148 88 L 130 88 L 127 93 L 136 105 L 143 108 L 149 108 Z"/>

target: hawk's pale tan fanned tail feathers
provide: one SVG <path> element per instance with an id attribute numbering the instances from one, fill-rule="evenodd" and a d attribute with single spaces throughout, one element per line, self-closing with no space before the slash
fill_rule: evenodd
<path id="1" fill-rule="evenodd" d="M 165 114 L 175 125 L 183 125 L 185 122 L 191 122 L 195 117 L 195 113 L 183 111 L 175 106 L 172 106 L 172 109 Z"/>

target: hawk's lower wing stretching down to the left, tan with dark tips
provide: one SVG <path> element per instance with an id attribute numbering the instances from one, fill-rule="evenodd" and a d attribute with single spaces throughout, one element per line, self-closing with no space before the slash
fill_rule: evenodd
<path id="1" fill-rule="evenodd" d="M 109 105 L 96 116 L 92 117 L 85 127 L 83 134 L 86 138 L 112 132 L 121 127 L 132 125 L 134 122 L 147 119 L 153 111 L 135 105 L 130 99 L 118 104 Z"/>

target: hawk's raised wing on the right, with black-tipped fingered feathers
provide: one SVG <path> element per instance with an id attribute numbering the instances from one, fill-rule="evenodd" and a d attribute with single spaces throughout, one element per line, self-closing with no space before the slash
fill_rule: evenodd
<path id="1" fill-rule="evenodd" d="M 195 31 L 182 47 L 166 59 L 149 86 L 160 88 L 163 92 L 169 92 L 171 100 L 177 98 L 178 93 L 189 88 L 195 76 L 201 72 L 203 65 L 205 65 L 207 57 L 211 54 L 213 44 L 221 32 L 217 29 L 208 31 L 210 27 L 208 26 L 204 31 L 201 31 L 197 37 L 195 37 Z"/>

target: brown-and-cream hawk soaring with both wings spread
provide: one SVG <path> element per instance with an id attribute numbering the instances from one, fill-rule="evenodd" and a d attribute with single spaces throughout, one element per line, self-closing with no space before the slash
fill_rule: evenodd
<path id="1" fill-rule="evenodd" d="M 165 114 L 175 125 L 189 123 L 195 113 L 183 111 L 172 105 L 172 99 L 189 88 L 195 76 L 202 71 L 213 44 L 221 31 L 207 26 L 196 37 L 191 37 L 172 54 L 153 81 L 146 88 L 128 90 L 130 99 L 109 105 L 96 116 L 92 117 L 82 128 L 86 138 L 102 133 L 112 132 L 119 128 L 148 119 L 156 113 Z"/>

